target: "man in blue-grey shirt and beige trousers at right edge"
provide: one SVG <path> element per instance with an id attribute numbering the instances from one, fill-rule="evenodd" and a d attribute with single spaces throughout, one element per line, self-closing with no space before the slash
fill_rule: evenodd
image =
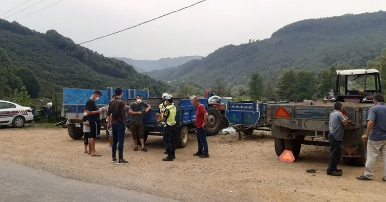
<path id="1" fill-rule="evenodd" d="M 380 154 L 383 159 L 383 181 L 386 182 L 386 105 L 382 94 L 373 96 L 374 106 L 370 108 L 367 129 L 362 140 L 367 142 L 367 161 L 364 174 L 359 180 L 372 180 L 375 160 Z"/>

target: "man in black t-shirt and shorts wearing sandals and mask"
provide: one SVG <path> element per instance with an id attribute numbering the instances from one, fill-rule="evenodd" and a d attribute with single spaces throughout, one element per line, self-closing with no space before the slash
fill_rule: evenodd
<path id="1" fill-rule="evenodd" d="M 95 151 L 95 138 L 96 134 L 98 134 L 98 130 L 101 130 L 101 124 L 99 122 L 100 120 L 100 114 L 102 114 L 102 110 L 99 109 L 98 106 L 95 104 L 95 100 L 99 100 L 99 98 L 102 96 L 102 93 L 98 90 L 94 91 L 90 99 L 88 99 L 86 103 L 86 110 L 88 115 L 88 122 L 90 123 L 90 142 L 91 145 L 91 156 L 102 156 L 99 153 L 96 153 Z"/>

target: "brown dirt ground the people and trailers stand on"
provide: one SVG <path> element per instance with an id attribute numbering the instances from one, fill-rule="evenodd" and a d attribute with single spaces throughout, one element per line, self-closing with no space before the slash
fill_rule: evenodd
<path id="1" fill-rule="evenodd" d="M 386 183 L 377 162 L 375 180 L 355 179 L 363 167 L 340 164 L 343 176 L 325 174 L 329 148 L 302 146 L 294 163 L 280 162 L 269 133 L 208 137 L 209 159 L 199 159 L 194 133 L 174 162 L 163 162 L 162 137 L 151 136 L 148 152 L 133 151 L 126 133 L 124 159 L 111 164 L 107 137 L 97 140 L 102 157 L 83 153 L 83 140 L 72 140 L 64 128 L 0 129 L 0 158 L 85 182 L 112 185 L 181 201 L 385 201 Z M 316 174 L 306 173 L 315 169 Z M 74 187 L 74 189 L 76 189 Z"/>

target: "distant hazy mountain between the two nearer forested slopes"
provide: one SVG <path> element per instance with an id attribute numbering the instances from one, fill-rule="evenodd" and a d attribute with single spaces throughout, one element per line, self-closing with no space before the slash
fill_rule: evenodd
<path id="1" fill-rule="evenodd" d="M 150 72 L 152 70 L 163 70 L 184 64 L 190 60 L 202 59 L 202 56 L 184 56 L 176 58 L 161 58 L 159 60 L 134 60 L 126 57 L 113 57 L 115 59 L 122 60 L 134 67 L 138 72 Z"/>

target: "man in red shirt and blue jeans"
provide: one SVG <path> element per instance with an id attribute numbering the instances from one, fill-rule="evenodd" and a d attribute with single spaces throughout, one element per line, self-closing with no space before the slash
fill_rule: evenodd
<path id="1" fill-rule="evenodd" d="M 208 143 L 206 142 L 206 122 L 208 120 L 208 113 L 196 96 L 190 98 L 192 105 L 196 107 L 196 127 L 197 127 L 197 142 L 198 151 L 193 154 L 200 156 L 200 158 L 209 158 Z"/>

